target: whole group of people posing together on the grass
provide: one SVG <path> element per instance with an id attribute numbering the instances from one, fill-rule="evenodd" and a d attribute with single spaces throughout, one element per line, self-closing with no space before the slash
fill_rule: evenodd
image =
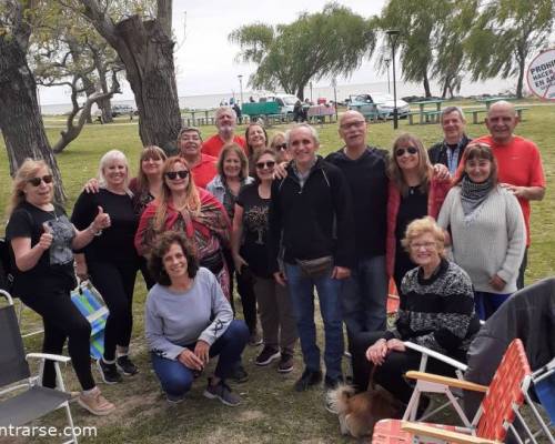
<path id="1" fill-rule="evenodd" d="M 490 135 L 474 141 L 460 108 L 446 108 L 441 122 L 444 140 L 428 151 L 401 134 L 389 153 L 370 147 L 364 117 L 346 111 L 339 128 L 344 147 L 323 159 L 311 125 L 269 140 L 251 123 L 242 138 L 234 111 L 221 107 L 215 135 L 203 142 L 196 128 L 184 128 L 170 158 L 147 147 L 137 178 L 122 152 L 105 153 L 71 218 L 52 202 L 46 163 L 28 160 L 14 178 L 7 228 L 13 292 L 42 316 L 46 353 L 60 353 L 69 339 L 78 401 L 94 414 L 114 406 L 94 383 L 90 326 L 70 301 L 73 261 L 110 310 L 97 363 L 105 383 L 139 371 L 129 346 L 141 270 L 149 289 L 144 332 L 170 403 L 182 401 L 219 355 L 204 395 L 238 405 L 226 381 L 246 381 L 245 345 L 263 344 L 255 364 L 279 361 L 276 370 L 286 373 L 297 339 L 304 370 L 294 389 L 322 380 L 334 389 L 343 381 L 343 323 L 357 389 L 379 365 L 377 382 L 406 402 L 402 374 L 417 361 L 402 341 L 464 361 L 478 316 L 524 283 L 529 201 L 545 191 L 537 148 L 513 134 L 518 119 L 511 103 L 491 107 Z M 390 278 L 401 305 L 387 331 Z M 235 282 L 244 321 L 235 319 Z M 56 386 L 50 364 L 43 383 Z"/>

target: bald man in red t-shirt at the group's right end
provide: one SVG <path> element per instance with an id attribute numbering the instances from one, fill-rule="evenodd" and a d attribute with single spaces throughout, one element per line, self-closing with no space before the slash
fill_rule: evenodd
<path id="1" fill-rule="evenodd" d="M 512 103 L 504 100 L 490 107 L 486 127 L 490 135 L 474 142 L 492 147 L 497 160 L 500 183 L 511 191 L 521 203 L 526 224 L 526 250 L 518 271 L 517 289 L 524 287 L 524 272 L 527 265 L 529 236 L 529 201 L 541 201 L 545 195 L 545 175 L 542 157 L 536 144 L 531 140 L 514 135 L 518 115 Z"/>

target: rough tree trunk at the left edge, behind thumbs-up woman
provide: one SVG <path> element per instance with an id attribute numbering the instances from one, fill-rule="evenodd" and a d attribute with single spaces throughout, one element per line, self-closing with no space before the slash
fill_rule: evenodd
<path id="1" fill-rule="evenodd" d="M 0 129 L 10 173 L 27 158 L 43 159 L 54 175 L 54 199 L 65 200 L 60 170 L 44 132 L 37 83 L 27 63 L 36 2 L 6 0 L 0 7 Z"/>

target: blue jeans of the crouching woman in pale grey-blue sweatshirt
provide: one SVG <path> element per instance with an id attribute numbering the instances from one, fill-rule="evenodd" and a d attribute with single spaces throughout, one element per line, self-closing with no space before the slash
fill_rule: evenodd
<path id="1" fill-rule="evenodd" d="M 210 357 L 220 355 L 214 375 L 225 380 L 229 377 L 241 359 L 241 353 L 249 341 L 249 329 L 243 321 L 233 320 L 222 334 L 210 347 Z M 186 345 L 194 350 L 195 344 Z M 194 373 L 178 360 L 169 360 L 151 353 L 152 366 L 157 373 L 162 390 L 172 396 L 183 396 L 191 390 Z"/>

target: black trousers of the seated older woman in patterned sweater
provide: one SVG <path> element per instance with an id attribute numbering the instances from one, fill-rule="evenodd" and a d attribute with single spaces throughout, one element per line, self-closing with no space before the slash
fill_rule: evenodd
<path id="1" fill-rule="evenodd" d="M 353 382 L 359 391 L 364 391 L 369 384 L 370 371 L 372 363 L 366 360 L 366 350 L 374 344 L 383 332 L 363 332 L 356 335 L 353 346 Z M 385 362 L 376 369 L 374 373 L 374 382 L 391 392 L 397 400 L 403 403 L 408 403 L 413 386 L 410 385 L 404 374 L 410 370 L 418 370 L 421 354 L 412 350 L 405 352 L 392 352 Z M 456 361 L 465 362 L 466 355 L 464 352 L 451 354 Z M 437 360 L 428 357 L 426 372 L 435 373 L 444 376 L 456 376 L 455 369 L 444 364 Z"/>

